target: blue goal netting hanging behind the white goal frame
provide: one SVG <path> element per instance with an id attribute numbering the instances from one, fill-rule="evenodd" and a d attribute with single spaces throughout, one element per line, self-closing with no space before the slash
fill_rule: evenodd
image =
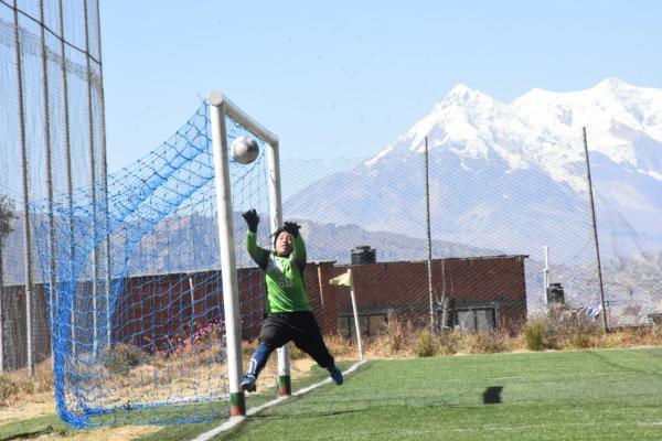
<path id="1" fill-rule="evenodd" d="M 229 141 L 247 133 L 226 119 Z M 47 204 L 32 209 L 42 268 L 54 261 L 54 273 L 43 279 L 54 281 L 44 291 L 53 290 L 56 299 L 49 306 L 57 409 L 73 426 L 227 415 L 210 137 L 203 104 L 171 139 L 108 176 L 107 205 L 86 190 L 73 201 L 57 198 L 53 228 Z M 253 266 L 244 251 L 244 209 L 263 214 L 259 233 L 268 240 L 264 151 L 248 165 L 231 162 L 239 267 Z M 261 278 L 253 268 L 239 269 L 238 283 L 241 320 L 250 338 L 261 319 Z"/>

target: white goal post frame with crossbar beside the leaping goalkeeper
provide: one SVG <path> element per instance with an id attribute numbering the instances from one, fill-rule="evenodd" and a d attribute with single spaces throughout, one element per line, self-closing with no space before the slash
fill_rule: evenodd
<path id="1" fill-rule="evenodd" d="M 269 217 L 270 230 L 275 233 L 282 223 L 280 194 L 280 165 L 278 137 L 263 128 L 253 118 L 234 105 L 221 92 L 210 94 L 210 119 L 216 187 L 216 209 L 218 219 L 218 246 L 223 282 L 223 305 L 227 344 L 227 369 L 229 387 L 229 413 L 233 417 L 246 415 L 244 392 L 239 383 L 243 373 L 242 330 L 239 321 L 239 288 L 237 283 L 236 250 L 229 180 L 229 158 L 225 118 L 228 116 L 265 142 L 268 161 Z M 278 351 L 278 390 L 281 395 L 291 394 L 289 353 L 287 346 Z"/>

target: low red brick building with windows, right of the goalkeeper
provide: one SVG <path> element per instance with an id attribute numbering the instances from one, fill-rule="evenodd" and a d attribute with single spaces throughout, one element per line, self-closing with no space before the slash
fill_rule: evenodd
<path id="1" fill-rule="evenodd" d="M 433 260 L 436 322 L 470 332 L 514 327 L 526 320 L 526 256 L 495 256 Z M 307 269 L 307 287 L 324 332 L 351 334 L 352 305 L 349 288 L 329 286 L 329 279 L 352 268 L 356 308 L 362 332 L 378 334 L 397 316 L 427 326 L 430 322 L 426 261 L 366 265 L 320 262 Z M 444 303 L 446 298 L 446 314 Z"/>

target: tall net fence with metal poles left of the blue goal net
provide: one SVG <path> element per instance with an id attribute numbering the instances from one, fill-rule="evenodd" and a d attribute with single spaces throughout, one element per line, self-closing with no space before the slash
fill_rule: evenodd
<path id="1" fill-rule="evenodd" d="M 15 369 L 51 354 L 26 207 L 105 173 L 97 3 L 0 1 L 0 369 Z"/>

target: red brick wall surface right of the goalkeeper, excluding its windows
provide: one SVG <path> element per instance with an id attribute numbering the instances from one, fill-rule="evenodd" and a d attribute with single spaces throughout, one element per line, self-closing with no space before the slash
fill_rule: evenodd
<path id="1" fill-rule="evenodd" d="M 324 332 L 337 332 L 338 314 L 351 311 L 350 289 L 328 284 L 329 279 L 349 268 L 360 314 L 392 309 L 405 320 L 429 323 L 427 262 L 311 265 L 307 282 Z M 495 306 L 499 324 L 514 325 L 526 319 L 523 256 L 434 260 L 433 291 L 436 298 L 446 293 L 456 308 Z"/>

